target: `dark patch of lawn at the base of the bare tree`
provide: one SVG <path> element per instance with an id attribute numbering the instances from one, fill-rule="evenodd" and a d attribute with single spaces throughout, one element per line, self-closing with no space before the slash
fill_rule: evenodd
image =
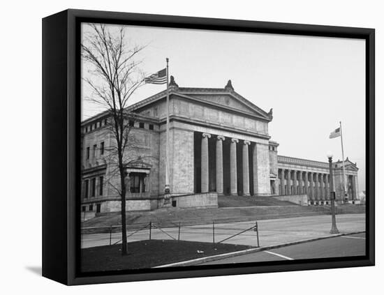
<path id="1" fill-rule="evenodd" d="M 126 256 L 121 256 L 121 244 L 84 248 L 81 250 L 81 266 L 84 272 L 152 268 L 249 248 L 247 245 L 190 241 L 136 241 L 128 243 L 128 255 Z"/>

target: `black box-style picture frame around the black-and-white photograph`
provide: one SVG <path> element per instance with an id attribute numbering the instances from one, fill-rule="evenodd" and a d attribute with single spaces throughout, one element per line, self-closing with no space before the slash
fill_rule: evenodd
<path id="1" fill-rule="evenodd" d="M 217 266 L 182 266 L 87 275 L 79 271 L 80 23 L 280 33 L 366 40 L 367 239 L 364 257 Z M 163 280 L 375 263 L 375 31 L 353 27 L 64 10 L 43 19 L 43 276 L 66 285 Z"/>

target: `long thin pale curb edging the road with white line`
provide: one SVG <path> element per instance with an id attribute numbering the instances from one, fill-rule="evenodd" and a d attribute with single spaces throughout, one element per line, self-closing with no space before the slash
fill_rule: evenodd
<path id="1" fill-rule="evenodd" d="M 293 241 L 293 242 L 281 243 L 281 244 L 276 244 L 276 245 L 269 245 L 269 246 L 260 247 L 260 248 L 251 248 L 251 249 L 241 250 L 241 251 L 236 251 L 236 252 L 223 253 L 223 254 L 219 254 L 219 255 L 213 255 L 213 256 L 208 256 L 208 257 L 201 257 L 201 258 L 197 258 L 197 259 L 186 260 L 184 262 L 175 262 L 175 263 L 171 263 L 171 264 L 164 264 L 161 266 L 154 266 L 153 268 L 197 265 L 197 264 L 202 264 L 205 262 L 213 262 L 213 261 L 219 260 L 219 259 L 230 258 L 230 257 L 246 255 L 246 254 L 255 253 L 255 252 L 262 252 L 265 250 L 271 250 L 271 249 L 286 247 L 289 245 L 297 245 L 297 244 L 301 244 L 301 243 L 308 243 L 308 242 L 313 242 L 313 241 L 318 241 L 318 240 L 330 239 L 330 238 L 334 238 L 337 236 L 348 236 L 350 234 L 362 234 L 364 232 L 365 231 L 348 232 L 348 233 L 344 233 L 344 234 L 332 234 L 329 236 L 320 236 L 318 238 Z"/>

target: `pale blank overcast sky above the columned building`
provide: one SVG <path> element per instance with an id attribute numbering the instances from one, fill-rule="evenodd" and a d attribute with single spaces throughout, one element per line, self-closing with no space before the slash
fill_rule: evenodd
<path id="1" fill-rule="evenodd" d="M 148 44 L 140 56 L 147 74 L 164 68 L 168 57 L 181 87 L 220 88 L 232 80 L 244 98 L 267 112 L 272 107 L 269 135 L 280 155 L 325 162 L 330 150 L 341 159 L 340 137 L 329 139 L 341 121 L 344 155 L 357 162 L 365 190 L 364 40 L 133 26 L 126 36 Z M 131 103 L 164 89 L 146 84 Z M 98 111 L 84 103 L 82 117 Z"/>

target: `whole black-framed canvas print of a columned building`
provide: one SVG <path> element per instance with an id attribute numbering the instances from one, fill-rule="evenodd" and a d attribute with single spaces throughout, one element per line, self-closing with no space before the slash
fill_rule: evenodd
<path id="1" fill-rule="evenodd" d="M 43 19 L 43 275 L 374 265 L 374 29 Z"/>

